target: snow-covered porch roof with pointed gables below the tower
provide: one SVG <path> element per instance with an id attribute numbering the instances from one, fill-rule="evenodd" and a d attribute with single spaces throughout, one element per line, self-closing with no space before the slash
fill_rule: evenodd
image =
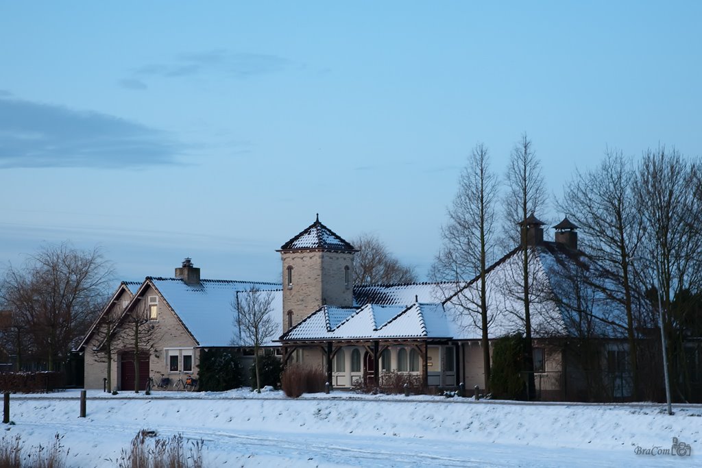
<path id="1" fill-rule="evenodd" d="M 441 304 L 323 306 L 288 330 L 283 341 L 451 337 Z"/>

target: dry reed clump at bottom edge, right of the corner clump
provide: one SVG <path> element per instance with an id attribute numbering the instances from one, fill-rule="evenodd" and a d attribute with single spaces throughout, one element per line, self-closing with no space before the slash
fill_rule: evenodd
<path id="1" fill-rule="evenodd" d="M 122 449 L 119 468 L 202 468 L 203 441 L 190 441 L 187 453 L 183 434 L 170 439 L 154 439 L 152 432 L 142 429 L 132 439 L 131 447 Z M 1 468 L 1 467 L 0 467 Z"/>

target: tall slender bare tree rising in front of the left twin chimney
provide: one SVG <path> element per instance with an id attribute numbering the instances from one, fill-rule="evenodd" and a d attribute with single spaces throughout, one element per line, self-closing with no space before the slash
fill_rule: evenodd
<path id="1" fill-rule="evenodd" d="M 514 226 L 521 227 L 519 231 L 519 241 L 522 246 L 522 301 L 524 303 L 524 366 L 527 373 L 527 391 L 529 396 L 534 396 L 536 387 L 534 385 L 534 356 L 533 343 L 531 340 L 531 310 L 530 289 L 529 289 L 529 257 L 534 255 L 529 247 L 528 229 L 530 229 L 529 214 L 536 213 L 545 206 L 545 185 L 541 175 L 541 163 L 536 159 L 531 140 L 524 133 L 517 142 L 507 169 L 506 180 L 508 182 L 508 192 L 504 199 L 505 220 L 514 232 Z M 509 234 L 508 234 L 509 235 Z"/>

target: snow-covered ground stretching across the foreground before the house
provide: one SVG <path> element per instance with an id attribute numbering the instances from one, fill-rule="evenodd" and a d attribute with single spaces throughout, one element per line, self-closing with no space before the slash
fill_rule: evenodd
<path id="1" fill-rule="evenodd" d="M 88 392 L 12 395 L 5 436 L 46 446 L 69 467 L 114 467 L 140 429 L 204 441 L 206 467 L 702 466 L 702 406 L 583 405 L 366 396 L 286 399 L 237 390 L 152 396 Z M 673 437 L 690 456 L 670 450 Z M 647 450 L 645 453 L 637 454 Z"/>

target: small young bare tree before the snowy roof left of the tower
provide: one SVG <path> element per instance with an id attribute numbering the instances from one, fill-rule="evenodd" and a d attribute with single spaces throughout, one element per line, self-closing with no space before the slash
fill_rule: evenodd
<path id="1" fill-rule="evenodd" d="M 234 312 L 234 336 L 232 345 L 253 347 L 253 365 L 256 368 L 256 392 L 261 392 L 259 352 L 265 341 L 272 337 L 278 329 L 272 317 L 273 293 L 262 291 L 251 286 L 249 290 L 241 291 L 232 300 Z"/>

